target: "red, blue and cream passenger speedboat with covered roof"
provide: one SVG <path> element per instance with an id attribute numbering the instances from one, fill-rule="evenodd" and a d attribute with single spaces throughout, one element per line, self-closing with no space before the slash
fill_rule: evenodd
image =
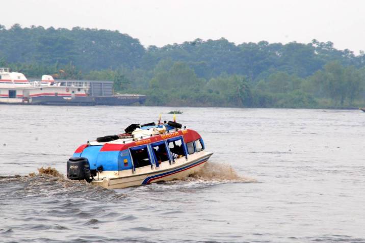
<path id="1" fill-rule="evenodd" d="M 119 135 L 77 148 L 67 161 L 67 178 L 105 188 L 124 188 L 184 179 L 213 154 L 198 132 L 174 121 L 132 124 Z"/>

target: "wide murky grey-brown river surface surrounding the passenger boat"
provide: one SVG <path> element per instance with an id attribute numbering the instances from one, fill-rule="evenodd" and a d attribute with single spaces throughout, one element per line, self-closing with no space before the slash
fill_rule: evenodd
<path id="1" fill-rule="evenodd" d="M 62 176 L 81 143 L 176 107 L 0 105 L 1 242 L 365 242 L 365 114 L 178 107 L 214 152 L 181 181 Z M 20 176 L 18 176 L 20 175 Z"/>

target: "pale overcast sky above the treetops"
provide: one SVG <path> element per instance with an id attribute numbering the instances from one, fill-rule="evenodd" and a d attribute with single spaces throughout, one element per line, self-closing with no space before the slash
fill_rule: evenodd
<path id="1" fill-rule="evenodd" d="M 356 53 L 365 50 L 362 0 L 0 0 L 0 4 L 0 24 L 7 28 L 19 23 L 118 30 L 144 46 L 224 37 L 236 44 L 317 39 Z"/>

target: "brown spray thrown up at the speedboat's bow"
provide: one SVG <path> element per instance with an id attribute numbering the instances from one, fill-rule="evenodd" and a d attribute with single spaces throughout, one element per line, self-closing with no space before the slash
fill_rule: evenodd
<path id="1" fill-rule="evenodd" d="M 208 162 L 192 178 L 199 180 L 219 180 L 232 182 L 256 182 L 255 179 L 240 176 L 230 165 Z"/>

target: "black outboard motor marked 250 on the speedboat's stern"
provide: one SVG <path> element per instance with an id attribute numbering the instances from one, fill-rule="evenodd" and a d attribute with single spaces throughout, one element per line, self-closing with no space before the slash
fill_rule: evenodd
<path id="1" fill-rule="evenodd" d="M 72 157 L 67 161 L 67 178 L 70 180 L 92 181 L 90 163 L 84 157 Z"/>

